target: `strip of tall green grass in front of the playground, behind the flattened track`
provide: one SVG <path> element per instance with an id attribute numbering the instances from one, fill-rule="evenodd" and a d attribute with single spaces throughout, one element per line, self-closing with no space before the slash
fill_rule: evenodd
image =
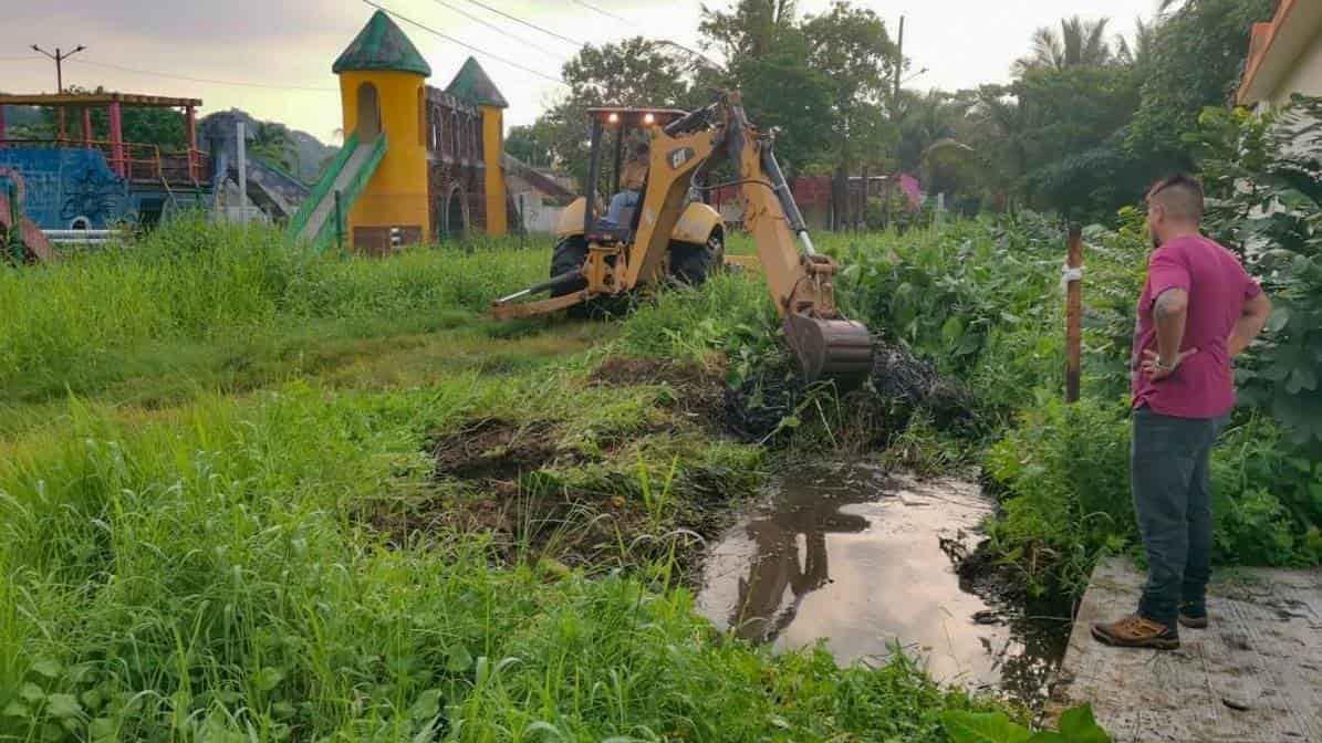
<path id="1" fill-rule="evenodd" d="M 181 219 L 132 246 L 0 271 L 0 389 L 77 389 L 152 341 L 476 313 L 545 275 L 545 250 L 512 245 L 317 256 L 271 227 Z"/>

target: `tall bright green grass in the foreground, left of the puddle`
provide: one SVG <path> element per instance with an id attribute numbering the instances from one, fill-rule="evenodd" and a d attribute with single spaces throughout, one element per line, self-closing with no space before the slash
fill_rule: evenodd
<path id="1" fill-rule="evenodd" d="M 546 385 L 293 385 L 136 427 L 78 406 L 0 463 L 0 739 L 944 740 L 969 701 L 907 661 L 772 658 L 645 574 L 547 582 L 481 539 L 387 547 L 354 518 L 426 490 L 426 431 Z M 535 405 L 578 427 L 602 407 Z"/>

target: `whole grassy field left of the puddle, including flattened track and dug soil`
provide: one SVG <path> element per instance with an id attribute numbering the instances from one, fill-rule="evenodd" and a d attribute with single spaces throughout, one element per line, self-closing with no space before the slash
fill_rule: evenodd
<path id="1" fill-rule="evenodd" d="M 945 740 L 915 664 L 693 612 L 776 464 L 707 397 L 756 278 L 481 316 L 546 264 L 184 222 L 0 272 L 0 739 Z"/>

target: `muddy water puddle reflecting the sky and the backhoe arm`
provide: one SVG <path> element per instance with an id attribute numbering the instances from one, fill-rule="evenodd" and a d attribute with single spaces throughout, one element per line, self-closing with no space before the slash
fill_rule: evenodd
<path id="1" fill-rule="evenodd" d="M 825 640 L 842 664 L 900 646 L 944 684 L 1046 701 L 1068 623 L 956 574 L 993 508 L 978 485 L 854 464 L 771 490 L 707 555 L 698 606 L 719 628 L 776 648 Z"/>

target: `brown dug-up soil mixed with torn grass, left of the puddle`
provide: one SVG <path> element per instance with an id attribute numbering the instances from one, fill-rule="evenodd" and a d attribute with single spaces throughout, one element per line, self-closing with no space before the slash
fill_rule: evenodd
<path id="1" fill-rule="evenodd" d="M 615 364 L 605 372 L 627 373 Z M 366 521 L 397 546 L 427 543 L 436 534 L 484 533 L 504 563 L 549 557 L 557 565 L 599 567 L 674 557 L 683 572 L 702 545 L 676 530 L 719 533 L 728 522 L 726 502 L 735 496 L 722 472 L 687 468 L 673 484 L 677 500 L 668 521 L 658 525 L 644 500 L 631 494 L 637 476 L 628 467 L 608 467 L 616 452 L 586 455 L 567 446 L 564 431 L 549 420 L 475 420 L 434 435 L 427 447 L 435 487 L 365 510 Z M 672 550 L 673 541 L 683 542 L 682 549 Z"/>

